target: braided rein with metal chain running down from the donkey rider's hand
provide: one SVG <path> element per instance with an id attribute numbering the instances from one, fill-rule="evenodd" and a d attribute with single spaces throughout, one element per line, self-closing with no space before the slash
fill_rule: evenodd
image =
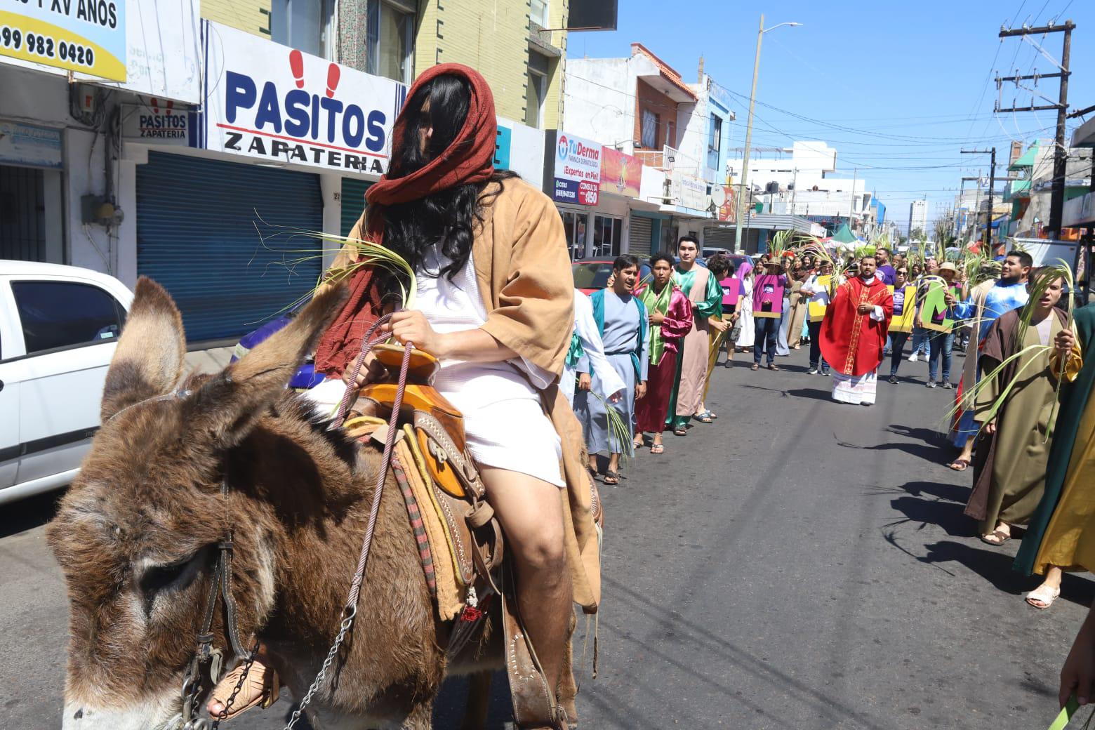
<path id="1" fill-rule="evenodd" d="M 350 373 L 346 379 L 346 393 L 343 395 L 343 399 L 338 404 L 338 410 L 334 418 L 335 424 L 342 424 L 346 414 L 349 412 L 349 406 L 354 402 L 354 397 L 357 394 L 357 376 L 361 371 L 361 366 L 365 362 L 366 356 L 372 350 L 373 347 L 379 345 L 384 339 L 388 339 L 387 335 L 373 338 L 373 334 L 381 325 L 387 324 L 391 317 L 391 314 L 385 314 L 377 320 L 372 326 L 369 327 L 369 332 L 361 340 L 361 354 L 358 355 L 357 360 L 354 361 L 354 367 L 350 369 Z M 369 522 L 365 529 L 365 538 L 361 542 L 361 553 L 358 556 L 357 570 L 354 572 L 354 579 L 349 584 L 349 595 L 346 598 L 346 604 L 343 606 L 341 615 L 342 621 L 338 624 L 338 634 L 335 636 L 334 642 L 331 645 L 331 650 L 327 651 L 327 656 L 323 660 L 323 664 L 320 667 L 320 671 L 316 673 L 315 680 L 308 688 L 304 697 L 300 700 L 300 705 L 298 705 L 297 709 L 293 710 L 292 716 L 289 718 L 289 722 L 285 726 L 285 730 L 292 730 L 293 726 L 297 725 L 297 721 L 300 720 L 300 717 L 304 712 L 304 708 L 312 702 L 312 697 L 326 680 L 327 671 L 334 663 L 335 657 L 338 656 L 339 647 L 342 647 L 347 634 L 349 634 L 350 628 L 354 626 L 354 618 L 357 616 L 357 599 L 361 592 L 361 583 L 365 581 L 365 568 L 369 561 L 369 551 L 372 547 L 372 533 L 377 528 L 377 518 L 380 514 L 380 497 L 383 494 L 384 480 L 388 478 L 388 470 L 392 462 L 392 450 L 395 447 L 395 434 L 399 430 L 400 409 L 403 406 L 403 392 L 406 389 L 407 369 L 411 364 L 411 350 L 413 349 L 414 345 L 411 343 L 406 343 L 403 346 L 403 362 L 400 366 L 399 384 L 395 389 L 395 399 L 392 403 L 392 415 L 388 422 L 388 434 L 384 439 L 384 452 L 380 461 L 380 470 L 377 472 L 377 484 L 372 490 L 372 506 L 369 510 Z"/>

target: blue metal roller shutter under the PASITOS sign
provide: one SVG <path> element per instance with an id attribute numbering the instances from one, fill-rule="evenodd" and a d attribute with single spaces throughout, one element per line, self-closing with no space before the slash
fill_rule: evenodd
<path id="1" fill-rule="evenodd" d="M 318 176 L 162 152 L 137 165 L 137 271 L 191 341 L 239 337 L 315 287 L 322 242 L 278 225 L 323 230 Z"/>

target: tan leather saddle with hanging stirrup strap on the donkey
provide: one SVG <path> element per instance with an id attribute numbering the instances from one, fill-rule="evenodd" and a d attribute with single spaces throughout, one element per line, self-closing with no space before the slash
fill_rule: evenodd
<path id="1" fill-rule="evenodd" d="M 391 416 L 395 403 L 397 383 L 394 380 L 403 364 L 404 349 L 397 345 L 378 345 L 372 351 L 391 379 L 361 387 L 351 413 L 385 418 Z M 471 565 L 463 559 L 458 561 L 466 584 L 475 589 L 470 594 L 477 595 L 481 605 L 492 592 L 500 596 L 506 671 L 517 727 L 563 730 L 568 720 L 556 702 L 554 690 L 549 688 L 517 611 L 512 571 L 504 566 L 502 528 L 494 510 L 484 500 L 483 480 L 468 451 L 463 415 L 433 385 L 439 367 L 437 358 L 429 352 L 411 351 L 400 422 L 411 426 L 426 470 L 438 490 L 443 493 L 438 495 L 438 503 L 458 544 L 458 557 L 462 556 L 464 547 L 468 548 Z M 469 615 L 480 615 L 480 612 L 469 613 L 465 609 L 456 619 L 449 638 L 450 657 L 459 653 L 472 638 L 472 628 L 477 624 L 475 618 L 466 621 Z"/>

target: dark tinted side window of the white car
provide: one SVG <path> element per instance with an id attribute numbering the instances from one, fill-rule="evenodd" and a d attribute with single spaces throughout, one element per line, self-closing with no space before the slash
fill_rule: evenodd
<path id="1" fill-rule="evenodd" d="M 114 341 L 125 310 L 99 287 L 68 281 L 13 281 L 26 354 Z"/>

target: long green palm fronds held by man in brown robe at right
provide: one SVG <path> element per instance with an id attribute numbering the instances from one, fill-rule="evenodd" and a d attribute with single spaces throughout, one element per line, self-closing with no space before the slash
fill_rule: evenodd
<path id="1" fill-rule="evenodd" d="M 1058 259 L 1060 260 L 1060 259 Z M 1062 279 L 1064 281 L 1065 293 L 1063 297 L 1068 297 L 1067 304 L 1063 308 L 1067 313 L 1065 327 L 1069 329 L 1074 329 L 1072 325 L 1072 310 L 1074 305 L 1074 289 L 1075 281 L 1072 276 L 1072 269 L 1068 264 L 1061 262 L 1060 264 L 1042 266 L 1040 267 L 1031 277 L 1030 283 L 1028 285 L 1030 291 L 1030 298 L 1027 303 L 1019 311 L 1019 325 L 1015 329 L 1015 343 L 1013 346 L 1014 354 L 1007 357 L 1003 362 L 998 364 L 992 372 L 986 373 L 977 383 L 973 384 L 969 391 L 967 391 L 963 397 L 955 404 L 947 415 L 947 419 L 954 418 L 954 416 L 959 410 L 967 410 L 973 408 L 977 403 L 978 395 L 984 392 L 984 389 L 991 385 L 996 379 L 1002 379 L 1004 371 L 1013 363 L 1022 363 L 1016 369 L 1015 373 L 1012 375 L 1011 380 L 1003 384 L 1000 389 L 1000 395 L 992 402 L 992 404 L 986 410 L 984 422 L 991 422 L 996 418 L 1000 409 L 1003 407 L 1004 403 L 1007 402 L 1007 397 L 1012 394 L 1015 389 L 1016 383 L 1023 381 L 1025 376 L 1035 374 L 1031 370 L 1033 366 L 1039 361 L 1038 356 L 1042 354 L 1052 355 L 1053 350 L 1057 349 L 1053 343 L 1048 345 L 1035 344 L 1027 345 L 1023 347 L 1023 343 L 1026 340 L 1026 334 L 1030 326 L 1030 320 L 1034 316 L 1035 309 L 1037 306 L 1038 300 L 1042 298 L 1046 291 L 1049 289 L 1050 285 L 1054 281 Z M 1050 313 L 1049 316 L 1054 316 Z M 1026 360 L 1024 361 L 1024 358 Z M 1050 358 L 1050 362 L 1053 360 Z M 1067 361 L 1062 359 L 1059 363 L 1061 371 L 1054 372 L 1056 375 L 1056 386 L 1053 389 L 1053 407 L 1050 410 L 1049 416 L 1049 428 L 1046 431 L 1046 440 L 1048 441 L 1053 433 L 1053 421 L 1056 420 L 1057 409 L 1061 402 L 1061 381 L 1064 380 L 1064 366 Z M 983 428 L 983 426 L 981 427 Z"/>

